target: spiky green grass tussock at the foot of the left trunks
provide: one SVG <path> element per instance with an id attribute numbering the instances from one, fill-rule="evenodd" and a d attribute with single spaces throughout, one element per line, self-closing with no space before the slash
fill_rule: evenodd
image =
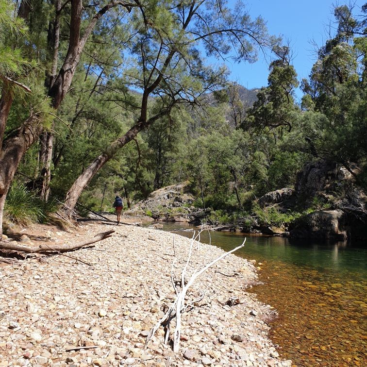
<path id="1" fill-rule="evenodd" d="M 5 201 L 4 217 L 19 225 L 43 223 L 47 221 L 48 214 L 56 209 L 56 200 L 43 201 L 24 184 L 14 182 Z"/>

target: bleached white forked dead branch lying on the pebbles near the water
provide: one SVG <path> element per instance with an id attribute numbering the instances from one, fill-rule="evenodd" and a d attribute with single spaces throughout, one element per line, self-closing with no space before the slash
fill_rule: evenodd
<path id="1" fill-rule="evenodd" d="M 172 265 L 171 265 L 171 283 L 172 283 L 173 289 L 175 290 L 175 293 L 176 293 L 176 299 L 174 300 L 173 304 L 171 304 L 171 306 L 168 308 L 165 315 L 150 330 L 150 333 L 148 334 L 147 339 L 145 341 L 145 347 L 147 347 L 148 342 L 154 336 L 154 334 L 156 333 L 156 331 L 159 329 L 159 327 L 161 325 L 163 325 L 166 328 L 165 343 L 167 344 L 168 337 L 169 337 L 169 324 L 170 324 L 170 321 L 174 317 L 176 317 L 176 327 L 175 327 L 174 336 L 173 336 L 173 351 L 175 353 L 177 353 L 179 351 L 179 349 L 180 349 L 180 336 L 181 336 L 181 314 L 184 313 L 184 311 L 187 309 L 187 307 L 189 307 L 190 305 L 192 305 L 194 303 L 199 302 L 204 297 L 204 295 L 202 294 L 199 299 L 192 300 L 192 301 L 186 303 L 185 296 L 186 296 L 186 293 L 187 293 L 188 289 L 191 287 L 191 285 L 194 283 L 194 281 L 197 278 L 199 278 L 200 275 L 203 272 L 205 272 L 209 267 L 213 266 L 214 264 L 216 264 L 218 261 L 220 261 L 221 259 L 223 259 L 227 255 L 229 255 L 230 253 L 232 253 L 232 252 L 234 252 L 234 251 L 236 251 L 236 250 L 238 250 L 238 249 L 245 246 L 246 238 L 243 241 L 242 245 L 236 247 L 235 249 L 233 249 L 231 251 L 228 251 L 228 252 L 222 254 L 217 259 L 213 260 L 212 262 L 210 262 L 206 265 L 202 265 L 201 267 L 198 267 L 194 271 L 194 273 L 191 275 L 189 281 L 187 283 L 185 283 L 185 273 L 186 273 L 187 266 L 190 262 L 192 250 L 193 250 L 193 247 L 194 247 L 194 243 L 195 243 L 195 240 L 198 237 L 199 237 L 199 241 L 200 241 L 200 233 L 201 232 L 202 232 L 202 230 L 199 231 L 199 233 L 196 236 L 195 236 L 195 233 L 192 236 L 191 243 L 190 243 L 190 250 L 189 250 L 187 260 L 186 260 L 186 264 L 184 265 L 184 268 L 181 272 L 181 291 L 177 288 L 176 282 L 173 279 L 173 268 L 174 268 L 174 265 L 177 261 L 177 256 L 176 256 L 176 251 L 175 251 L 175 239 L 173 237 L 174 259 L 173 259 Z M 198 244 L 198 248 L 199 248 L 199 244 Z"/>

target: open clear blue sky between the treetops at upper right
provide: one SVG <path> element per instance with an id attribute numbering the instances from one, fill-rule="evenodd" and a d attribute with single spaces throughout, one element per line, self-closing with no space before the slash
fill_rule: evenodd
<path id="1" fill-rule="evenodd" d="M 229 0 L 234 3 L 234 0 Z M 251 17 L 262 16 L 267 21 L 270 34 L 283 34 L 289 38 L 294 52 L 293 65 L 299 80 L 306 78 L 316 61 L 314 47 L 310 44 L 313 39 L 318 46 L 326 40 L 325 29 L 330 20 L 334 21 L 333 0 L 244 0 Z M 356 0 L 355 10 L 360 14 L 360 7 L 367 0 Z M 339 5 L 347 1 L 340 1 Z M 231 79 L 245 87 L 259 88 L 267 85 L 268 63 L 263 56 L 254 64 L 227 63 L 232 71 Z M 297 95 L 300 97 L 301 92 Z"/>

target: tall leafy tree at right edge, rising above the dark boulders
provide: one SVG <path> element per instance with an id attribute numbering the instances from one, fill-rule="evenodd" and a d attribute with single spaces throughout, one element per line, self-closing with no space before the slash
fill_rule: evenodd
<path id="1" fill-rule="evenodd" d="M 307 111 L 302 128 L 314 155 L 355 175 L 350 162 L 364 163 L 367 157 L 366 17 L 357 20 L 346 5 L 336 7 L 334 15 L 336 33 L 319 48 L 309 79 L 302 81 Z"/>

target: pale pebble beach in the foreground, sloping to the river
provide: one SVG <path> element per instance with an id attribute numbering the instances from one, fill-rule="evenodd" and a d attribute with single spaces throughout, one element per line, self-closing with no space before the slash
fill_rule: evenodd
<path id="1" fill-rule="evenodd" d="M 34 246 L 52 246 L 111 228 L 113 237 L 68 254 L 90 265 L 61 255 L 0 262 L 0 366 L 164 367 L 168 357 L 170 366 L 291 365 L 279 359 L 267 337 L 270 306 L 246 292 L 256 280 L 251 262 L 230 255 L 194 283 L 188 298 L 205 296 L 184 313 L 180 352 L 174 355 L 162 327 L 144 348 L 150 328 L 175 297 L 172 234 L 98 221 L 78 231 L 44 227 L 44 235 L 22 233 Z M 175 240 L 179 279 L 190 240 Z M 189 273 L 222 253 L 195 246 Z"/>

